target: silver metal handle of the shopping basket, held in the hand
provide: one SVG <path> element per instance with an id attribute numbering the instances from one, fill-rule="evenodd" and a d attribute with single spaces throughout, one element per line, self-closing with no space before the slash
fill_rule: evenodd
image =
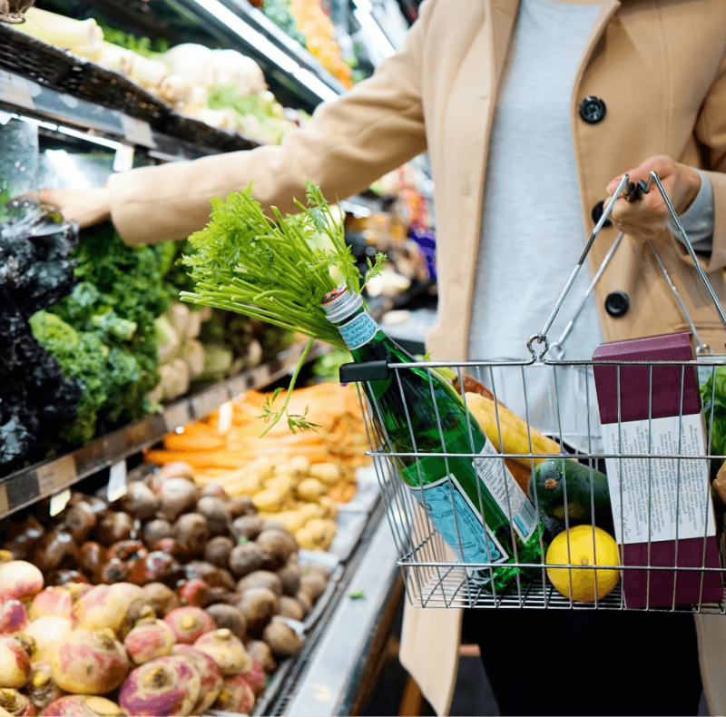
<path id="1" fill-rule="evenodd" d="M 531 337 L 527 341 L 527 349 L 529 349 L 529 352 L 532 354 L 532 358 L 535 360 L 541 360 L 544 357 L 544 354 L 547 353 L 547 350 L 549 349 L 549 343 L 547 341 L 547 332 L 549 329 L 552 328 L 552 324 L 554 322 L 554 319 L 557 316 L 557 313 L 562 308 L 562 305 L 564 303 L 564 299 L 569 293 L 570 289 L 572 288 L 574 284 L 574 280 L 577 278 L 577 275 L 580 273 L 580 270 L 583 267 L 584 260 L 587 258 L 587 255 L 590 253 L 590 249 L 593 246 L 593 242 L 595 241 L 595 238 L 600 233 L 600 230 L 603 229 L 603 224 L 607 220 L 607 218 L 610 216 L 610 213 L 613 211 L 613 206 L 615 204 L 615 201 L 618 199 L 618 197 L 623 194 L 623 197 L 628 201 L 636 201 L 640 199 L 643 194 L 647 194 L 651 191 L 653 182 L 658 187 L 658 191 L 661 192 L 661 196 L 663 198 L 663 201 L 665 202 L 666 207 L 668 208 L 669 213 L 671 214 L 671 218 L 673 223 L 676 225 L 676 228 L 678 229 L 678 232 L 681 234 L 683 244 L 686 247 L 686 250 L 688 250 L 689 255 L 691 256 L 693 263 L 695 265 L 696 271 L 698 272 L 698 275 L 701 277 L 701 281 L 703 282 L 703 285 L 706 287 L 706 290 L 709 292 L 709 296 L 711 296 L 711 300 L 713 301 L 713 305 L 716 307 L 716 311 L 719 314 L 719 318 L 721 319 L 721 323 L 723 324 L 723 328 L 726 329 L 726 312 L 724 312 L 723 308 L 721 307 L 721 303 L 719 302 L 718 297 L 716 296 L 716 292 L 713 290 L 713 287 L 711 286 L 711 281 L 708 280 L 708 277 L 706 276 L 706 272 L 703 270 L 703 267 L 701 267 L 701 262 L 698 260 L 698 257 L 696 256 L 695 250 L 693 250 L 693 246 L 691 243 L 691 240 L 688 238 L 688 235 L 686 234 L 686 231 L 683 229 L 683 225 L 681 223 L 681 220 L 678 218 L 678 214 L 676 213 L 675 209 L 673 208 L 672 202 L 670 198 L 668 197 L 668 194 L 663 189 L 663 185 L 661 183 L 661 179 L 658 176 L 658 174 L 654 171 L 651 172 L 650 177 L 648 178 L 648 182 L 643 182 L 641 180 L 637 184 L 634 182 L 630 182 L 630 179 L 627 174 L 623 174 L 623 177 L 621 177 L 620 182 L 618 183 L 617 189 L 613 193 L 613 196 L 611 197 L 610 201 L 608 201 L 607 205 L 605 206 L 603 210 L 603 215 L 600 217 L 600 219 L 595 224 L 593 233 L 590 235 L 590 238 L 588 239 L 587 243 L 585 244 L 584 250 L 582 255 L 580 256 L 579 260 L 577 260 L 577 263 L 574 266 L 573 272 L 570 274 L 569 279 L 564 285 L 564 289 L 560 293 L 559 298 L 557 299 L 554 309 L 552 309 L 552 312 L 550 313 L 547 320 L 544 322 L 544 327 L 542 330 L 535 334 L 535 336 Z M 654 247 L 651 248 L 654 251 Z M 657 252 L 655 252 L 656 257 L 658 257 Z M 659 264 L 661 262 L 659 261 Z M 684 305 L 682 303 L 682 300 L 680 300 L 680 297 L 677 297 L 679 299 L 679 303 L 682 306 L 682 309 L 684 309 Z M 686 319 L 688 320 L 689 324 L 693 327 L 692 321 L 690 320 L 690 317 L 688 316 L 688 313 L 685 314 Z M 540 346 L 539 351 L 535 349 L 535 344 L 538 344 Z"/>

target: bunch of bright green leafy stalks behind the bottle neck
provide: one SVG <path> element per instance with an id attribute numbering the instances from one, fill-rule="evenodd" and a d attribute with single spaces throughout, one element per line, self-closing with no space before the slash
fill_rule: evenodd
<path id="1" fill-rule="evenodd" d="M 296 201 L 301 213 L 283 217 L 273 208 L 276 221 L 252 199 L 251 184 L 227 201 L 212 200 L 210 222 L 191 235 L 194 252 L 183 260 L 196 287 L 182 291 L 182 300 L 235 311 L 310 338 L 290 391 L 313 339 L 346 349 L 320 300 L 341 281 L 357 293 L 363 288 L 341 223 L 318 187 L 308 182 L 306 190 L 307 206 Z M 384 260 L 383 254 L 376 255 L 375 263 L 368 260 L 368 278 L 380 273 Z M 272 401 L 266 406 L 263 417 L 272 419 L 270 427 L 287 415 L 288 401 L 277 412 L 270 408 Z M 293 431 L 311 427 L 304 416 L 288 415 L 288 424 Z"/>

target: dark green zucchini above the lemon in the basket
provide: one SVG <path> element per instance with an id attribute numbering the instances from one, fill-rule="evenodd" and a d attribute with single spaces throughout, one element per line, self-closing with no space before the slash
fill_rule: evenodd
<path id="1" fill-rule="evenodd" d="M 574 460 L 548 458 L 535 467 L 529 479 L 529 495 L 533 500 L 537 496 L 540 511 L 558 521 L 564 521 L 565 518 L 565 488 L 569 525 L 594 522 L 597 527 L 613 533 L 613 510 L 607 476 L 593 468 L 592 500 L 590 467 Z"/>

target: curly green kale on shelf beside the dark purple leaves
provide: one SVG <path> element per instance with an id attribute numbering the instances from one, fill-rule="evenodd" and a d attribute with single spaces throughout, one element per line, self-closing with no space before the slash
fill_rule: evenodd
<path id="1" fill-rule="evenodd" d="M 72 294 L 34 315 L 36 339 L 66 378 L 83 383 L 78 417 L 64 434 L 69 442 L 150 412 L 146 397 L 159 382 L 154 319 L 169 306 L 163 276 L 175 251 L 172 242 L 129 247 L 111 222 L 84 231 Z"/>

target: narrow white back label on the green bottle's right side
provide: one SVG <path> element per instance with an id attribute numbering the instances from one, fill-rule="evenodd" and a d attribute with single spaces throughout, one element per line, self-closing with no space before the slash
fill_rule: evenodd
<path id="1" fill-rule="evenodd" d="M 516 534 L 526 543 L 537 525 L 535 506 L 529 502 L 525 491 L 519 487 L 501 455 L 486 436 L 482 453 L 486 457 L 476 458 L 474 461 L 476 475 L 514 526 Z"/>

